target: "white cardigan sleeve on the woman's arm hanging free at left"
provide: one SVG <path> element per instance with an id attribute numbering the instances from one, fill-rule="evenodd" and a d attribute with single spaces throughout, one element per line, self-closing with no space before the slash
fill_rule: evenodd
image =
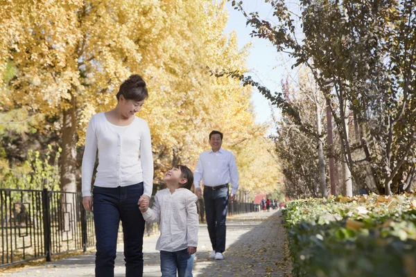
<path id="1" fill-rule="evenodd" d="M 97 145 L 95 117 L 93 116 L 91 120 L 89 120 L 87 134 L 85 135 L 85 148 L 81 175 L 81 190 L 83 192 L 83 197 L 91 196 L 91 181 L 96 161 Z"/>

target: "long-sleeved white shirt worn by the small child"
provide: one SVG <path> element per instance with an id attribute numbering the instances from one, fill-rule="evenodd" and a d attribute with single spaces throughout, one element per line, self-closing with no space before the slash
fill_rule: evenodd
<path id="1" fill-rule="evenodd" d="M 165 188 L 156 193 L 153 207 L 143 213 L 147 222 L 160 222 L 156 250 L 175 252 L 198 246 L 197 200 L 187 188 L 177 188 L 175 193 Z"/>

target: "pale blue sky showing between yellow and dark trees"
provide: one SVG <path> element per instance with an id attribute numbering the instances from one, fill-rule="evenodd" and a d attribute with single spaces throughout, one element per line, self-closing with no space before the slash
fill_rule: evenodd
<path id="1" fill-rule="evenodd" d="M 248 12 L 259 12 L 263 19 L 272 19 L 272 7 L 270 3 L 264 3 L 264 0 L 247 0 L 243 1 L 243 8 Z M 235 31 L 238 37 L 239 47 L 243 48 L 246 44 L 252 44 L 250 55 L 247 60 L 247 66 L 254 80 L 263 84 L 270 91 L 281 91 L 281 80 L 286 78 L 287 70 L 290 70 L 292 60 L 287 55 L 277 53 L 275 47 L 266 39 L 251 37 L 252 28 L 245 26 L 246 19 L 239 10 L 234 10 L 231 1 L 226 4 L 229 11 L 229 19 L 225 28 L 225 33 Z M 256 112 L 256 122 L 266 123 L 271 120 L 272 109 L 266 98 L 254 89 L 252 96 L 254 111 Z M 275 114 L 279 111 L 274 109 Z"/>

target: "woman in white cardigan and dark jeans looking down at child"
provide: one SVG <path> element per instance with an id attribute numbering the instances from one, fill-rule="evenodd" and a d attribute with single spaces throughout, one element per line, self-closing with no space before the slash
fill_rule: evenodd
<path id="1" fill-rule="evenodd" d="M 123 225 L 125 276 L 143 276 L 145 221 L 139 205 L 153 190 L 149 127 L 135 116 L 148 98 L 146 82 L 131 75 L 121 84 L 111 111 L 89 121 L 83 156 L 83 205 L 94 213 L 96 276 L 114 276 L 119 223 Z M 98 168 L 91 181 L 98 150 Z"/>

